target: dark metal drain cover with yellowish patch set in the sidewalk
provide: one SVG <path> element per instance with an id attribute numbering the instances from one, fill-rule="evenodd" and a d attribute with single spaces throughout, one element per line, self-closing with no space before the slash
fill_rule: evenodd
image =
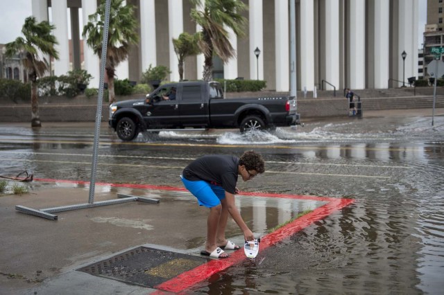
<path id="1" fill-rule="evenodd" d="M 137 247 L 77 270 L 152 288 L 209 260 L 183 253 Z"/>

